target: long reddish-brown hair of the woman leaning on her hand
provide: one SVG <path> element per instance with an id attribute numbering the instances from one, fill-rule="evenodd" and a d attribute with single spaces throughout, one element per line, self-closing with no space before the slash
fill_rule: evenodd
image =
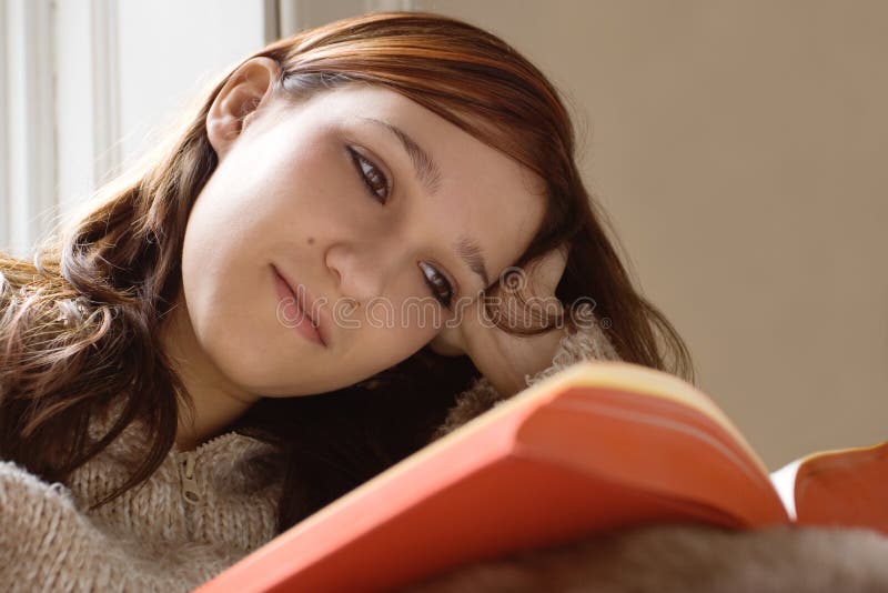
<path id="1" fill-rule="evenodd" d="M 515 265 L 568 242 L 556 291 L 565 311 L 592 299 L 624 361 L 694 381 L 680 336 L 633 288 L 605 233 L 557 91 L 504 41 L 438 14 L 376 12 L 299 32 L 255 56 L 281 64 L 274 92 L 294 103 L 341 84 L 382 86 L 541 175 L 547 213 Z M 130 480 L 98 504 L 157 470 L 174 443 L 179 405 L 191 401 L 158 330 L 181 290 L 189 213 L 218 163 L 206 113 L 233 71 L 154 151 L 101 187 L 82 215 L 38 245 L 32 261 L 0 255 L 0 458 L 64 481 L 132 421 L 149 429 L 150 450 Z M 467 356 L 440 356 L 426 345 L 373 381 L 252 406 L 233 428 L 281 445 L 273 465 L 285 475 L 279 529 L 426 444 L 477 376 Z M 123 403 L 122 413 L 92 442 L 90 419 L 112 402 Z"/>

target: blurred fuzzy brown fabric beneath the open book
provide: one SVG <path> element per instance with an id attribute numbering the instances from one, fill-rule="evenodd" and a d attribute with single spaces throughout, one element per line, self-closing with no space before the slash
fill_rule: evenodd
<path id="1" fill-rule="evenodd" d="M 647 525 L 461 566 L 402 593 L 876 593 L 888 537 L 864 529 Z"/>

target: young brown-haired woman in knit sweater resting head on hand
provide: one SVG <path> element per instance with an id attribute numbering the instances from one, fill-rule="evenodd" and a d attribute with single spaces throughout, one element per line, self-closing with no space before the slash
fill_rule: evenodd
<path id="1" fill-rule="evenodd" d="M 579 360 L 693 382 L 557 91 L 435 14 L 245 59 L 0 272 L 13 589 L 190 589 Z"/>

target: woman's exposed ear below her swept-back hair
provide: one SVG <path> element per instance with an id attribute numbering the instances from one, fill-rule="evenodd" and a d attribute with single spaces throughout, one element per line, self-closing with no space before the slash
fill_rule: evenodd
<path id="1" fill-rule="evenodd" d="M 280 64 L 271 58 L 251 58 L 232 72 L 219 91 L 206 113 L 206 137 L 220 160 L 256 110 L 271 101 L 272 82 L 280 71 Z"/>

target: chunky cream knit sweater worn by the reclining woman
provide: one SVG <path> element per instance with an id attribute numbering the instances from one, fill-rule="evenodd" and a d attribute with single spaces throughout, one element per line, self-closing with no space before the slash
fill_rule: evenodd
<path id="1" fill-rule="evenodd" d="M 597 323 L 566 334 L 548 369 L 618 356 Z M 503 398 L 486 379 L 457 396 L 440 434 Z M 90 431 L 108 424 L 97 420 Z M 273 539 L 282 484 L 258 486 L 250 460 L 262 441 L 229 432 L 194 451 L 173 448 L 142 485 L 90 512 L 129 476 L 128 452 L 143 450 L 132 424 L 68 484 L 48 484 L 0 461 L 0 589 L 3 591 L 190 591 Z"/>

